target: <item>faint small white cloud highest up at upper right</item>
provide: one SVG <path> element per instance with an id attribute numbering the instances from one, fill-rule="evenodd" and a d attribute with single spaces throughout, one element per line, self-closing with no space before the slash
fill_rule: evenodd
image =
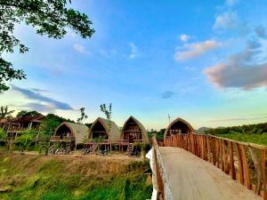
<path id="1" fill-rule="evenodd" d="M 223 12 L 215 18 L 214 28 L 237 28 L 239 24 L 239 18 L 236 12 Z"/>

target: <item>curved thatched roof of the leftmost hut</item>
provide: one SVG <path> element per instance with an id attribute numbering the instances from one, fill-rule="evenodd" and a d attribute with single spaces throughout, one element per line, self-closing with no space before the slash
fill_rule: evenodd
<path id="1" fill-rule="evenodd" d="M 58 130 L 63 125 L 66 125 L 69 128 L 71 134 L 75 136 L 76 144 L 85 143 L 85 140 L 87 139 L 88 130 L 89 130 L 89 128 L 86 125 L 63 122 L 57 127 L 56 131 L 54 132 L 54 135 L 57 135 Z"/>

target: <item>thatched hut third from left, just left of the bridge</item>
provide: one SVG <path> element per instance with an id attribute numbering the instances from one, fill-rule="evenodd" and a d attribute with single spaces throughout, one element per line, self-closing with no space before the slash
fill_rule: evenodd
<path id="1" fill-rule="evenodd" d="M 149 142 L 148 132 L 141 122 L 134 118 L 134 116 L 130 116 L 125 121 L 120 139 L 129 140 L 129 142 L 134 142 L 134 140 L 143 140 L 145 142 Z"/>

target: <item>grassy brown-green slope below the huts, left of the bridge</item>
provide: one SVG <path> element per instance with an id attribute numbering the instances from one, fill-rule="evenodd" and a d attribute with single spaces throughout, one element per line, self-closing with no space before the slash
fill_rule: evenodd
<path id="1" fill-rule="evenodd" d="M 0 152 L 1 153 L 1 152 Z M 0 199 L 150 198 L 148 162 L 104 157 L 0 155 Z"/>

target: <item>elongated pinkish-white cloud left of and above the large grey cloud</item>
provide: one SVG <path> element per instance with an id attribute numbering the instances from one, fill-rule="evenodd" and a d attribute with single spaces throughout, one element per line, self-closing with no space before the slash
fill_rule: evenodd
<path id="1" fill-rule="evenodd" d="M 216 48 L 219 48 L 220 46 L 222 46 L 222 44 L 216 42 L 215 40 L 206 40 L 199 43 L 184 44 L 183 49 L 185 50 L 175 52 L 175 60 L 190 60 L 206 52 L 210 52 Z"/>

